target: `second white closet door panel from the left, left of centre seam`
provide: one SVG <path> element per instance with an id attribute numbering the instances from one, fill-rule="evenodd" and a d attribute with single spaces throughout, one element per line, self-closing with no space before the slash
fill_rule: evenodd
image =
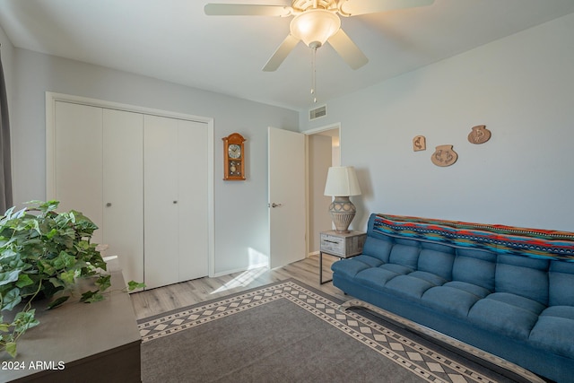
<path id="1" fill-rule="evenodd" d="M 143 281 L 143 115 L 103 110 L 103 243 L 127 281 Z"/>

